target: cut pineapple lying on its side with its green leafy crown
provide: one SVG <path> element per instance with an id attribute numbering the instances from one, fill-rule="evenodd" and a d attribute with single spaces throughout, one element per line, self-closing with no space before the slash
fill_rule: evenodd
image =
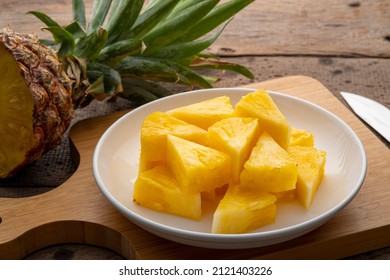
<path id="1" fill-rule="evenodd" d="M 228 21 L 253 0 L 95 0 L 86 23 L 73 0 L 63 27 L 32 11 L 53 40 L 0 30 L 0 178 L 12 176 L 55 147 L 75 109 L 120 95 L 148 102 L 171 94 L 156 82 L 211 87 L 196 69 L 245 67 L 203 54 Z"/>

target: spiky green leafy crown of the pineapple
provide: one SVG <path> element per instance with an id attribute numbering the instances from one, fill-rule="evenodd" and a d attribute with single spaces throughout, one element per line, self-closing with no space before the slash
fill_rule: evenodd
<path id="1" fill-rule="evenodd" d="M 98 100 L 117 94 L 139 99 L 138 90 L 147 96 L 146 102 L 169 92 L 157 81 L 212 87 L 216 78 L 199 74 L 199 69 L 234 71 L 252 79 L 246 67 L 203 52 L 253 1 L 95 0 L 87 23 L 84 1 L 73 0 L 73 22 L 67 26 L 44 13 L 29 13 L 53 36 L 42 42 L 55 48 L 65 65 L 73 66 L 67 72 L 76 81 L 80 98 L 85 99 L 80 93 L 84 86 L 85 94 Z"/>

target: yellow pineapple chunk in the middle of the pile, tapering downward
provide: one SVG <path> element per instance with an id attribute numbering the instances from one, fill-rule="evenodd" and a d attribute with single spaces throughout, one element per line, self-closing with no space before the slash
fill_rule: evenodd
<path id="1" fill-rule="evenodd" d="M 260 135 L 256 118 L 231 117 L 209 127 L 209 146 L 227 153 L 232 160 L 232 179 L 239 181 L 245 161 Z"/>

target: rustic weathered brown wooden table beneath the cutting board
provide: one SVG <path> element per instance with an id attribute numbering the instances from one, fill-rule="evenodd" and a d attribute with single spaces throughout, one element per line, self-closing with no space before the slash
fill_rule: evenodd
<path id="1" fill-rule="evenodd" d="M 92 1 L 85 3 L 88 12 Z M 60 23 L 67 23 L 71 18 L 71 1 L 3 0 L 0 26 L 9 25 L 19 32 L 36 32 L 47 37 L 47 33 L 40 31 L 42 24 L 33 16 L 25 15 L 29 10 L 46 12 Z M 225 60 L 248 66 L 255 78 L 250 81 L 226 73 L 215 86 L 235 87 L 304 75 L 320 81 L 343 103 L 339 92 L 349 91 L 390 107 L 389 26 L 390 2 L 387 0 L 255 1 L 233 19 L 210 48 Z M 74 123 L 129 106 L 126 102 L 93 104 L 78 112 Z M 0 197 L 41 194 L 62 184 L 75 169 L 68 140 L 63 142 L 16 178 L 0 180 Z M 388 182 L 390 172 L 384 174 Z M 390 213 L 388 205 L 378 207 Z M 378 250 L 351 258 L 390 259 L 389 247 L 375 249 Z M 122 256 L 96 246 L 63 244 L 43 248 L 27 258 L 117 259 Z"/>

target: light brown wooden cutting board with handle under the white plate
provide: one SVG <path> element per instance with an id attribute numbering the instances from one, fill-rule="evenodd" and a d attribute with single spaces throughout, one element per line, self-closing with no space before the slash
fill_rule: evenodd
<path id="1" fill-rule="evenodd" d="M 0 259 L 19 259 L 45 246 L 85 243 L 128 259 L 337 259 L 390 245 L 390 149 L 320 82 L 291 76 L 263 87 L 316 103 L 342 118 L 366 149 L 368 172 L 355 199 L 318 229 L 292 241 L 245 249 L 181 245 L 144 231 L 124 218 L 98 189 L 92 171 L 94 147 L 126 112 L 84 120 L 70 131 L 77 171 L 61 186 L 27 198 L 0 198 Z"/>

